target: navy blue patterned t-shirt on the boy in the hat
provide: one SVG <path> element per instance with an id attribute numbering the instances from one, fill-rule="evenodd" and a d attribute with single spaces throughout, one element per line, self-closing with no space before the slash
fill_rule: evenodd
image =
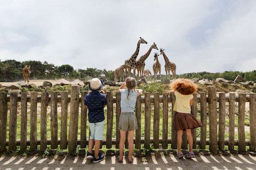
<path id="1" fill-rule="evenodd" d="M 105 120 L 104 105 L 107 104 L 106 97 L 99 91 L 92 91 L 84 98 L 84 105 L 87 106 L 89 113 L 88 118 L 90 123 L 102 122 Z"/>

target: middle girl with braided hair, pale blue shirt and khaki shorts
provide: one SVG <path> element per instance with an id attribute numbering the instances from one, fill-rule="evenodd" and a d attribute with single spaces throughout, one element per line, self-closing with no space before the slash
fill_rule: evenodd
<path id="1" fill-rule="evenodd" d="M 121 114 L 119 118 L 119 130 L 120 130 L 120 143 L 119 143 L 119 156 L 118 162 L 122 163 L 123 150 L 125 145 L 126 131 L 128 131 L 128 163 L 132 163 L 134 158 L 132 157 L 133 145 L 134 145 L 134 130 L 138 128 L 137 119 L 134 115 L 134 106 L 136 104 L 137 96 L 142 94 L 141 89 L 134 89 L 136 86 L 136 80 L 133 77 L 127 77 L 125 82 L 119 88 L 121 93 Z M 123 89 L 126 87 L 126 89 Z"/>

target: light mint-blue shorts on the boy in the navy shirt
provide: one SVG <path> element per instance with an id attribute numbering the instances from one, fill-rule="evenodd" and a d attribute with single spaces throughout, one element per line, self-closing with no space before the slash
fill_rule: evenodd
<path id="1" fill-rule="evenodd" d="M 90 131 L 91 131 L 90 139 L 102 141 L 103 132 L 104 132 L 104 122 L 105 122 L 105 120 L 103 120 L 102 122 L 97 122 L 97 123 L 89 122 Z"/>

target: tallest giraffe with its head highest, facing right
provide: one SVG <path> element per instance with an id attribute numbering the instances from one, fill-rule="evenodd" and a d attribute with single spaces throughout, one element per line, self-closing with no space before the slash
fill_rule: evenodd
<path id="1" fill-rule="evenodd" d="M 138 54 L 139 54 L 139 51 L 140 51 L 140 44 L 141 43 L 147 44 L 148 42 L 146 42 L 143 38 L 140 37 L 140 40 L 137 43 L 136 51 L 134 52 L 134 54 L 131 55 L 131 57 L 129 59 L 125 60 L 125 65 L 126 65 L 126 67 L 125 67 L 125 77 L 127 77 L 127 75 L 126 75 L 127 69 L 128 69 L 128 76 L 131 75 L 131 70 L 134 69 L 134 78 L 136 77 L 135 76 L 136 58 L 138 57 Z"/>

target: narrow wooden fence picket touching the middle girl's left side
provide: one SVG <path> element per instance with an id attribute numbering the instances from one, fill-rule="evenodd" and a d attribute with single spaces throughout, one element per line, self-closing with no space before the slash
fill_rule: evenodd
<path id="1" fill-rule="evenodd" d="M 119 148 L 120 130 L 119 130 L 119 117 L 121 113 L 121 93 L 116 92 L 116 148 Z"/>

